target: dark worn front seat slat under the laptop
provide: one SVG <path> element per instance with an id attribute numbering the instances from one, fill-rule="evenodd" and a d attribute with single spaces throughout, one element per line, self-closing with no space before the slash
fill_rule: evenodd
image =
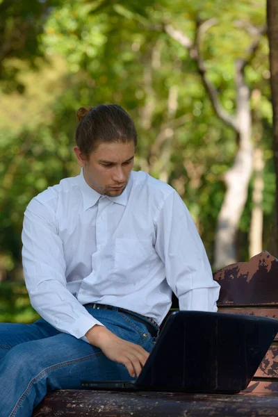
<path id="1" fill-rule="evenodd" d="M 278 397 L 157 392 L 56 391 L 33 417 L 277 416 Z"/>

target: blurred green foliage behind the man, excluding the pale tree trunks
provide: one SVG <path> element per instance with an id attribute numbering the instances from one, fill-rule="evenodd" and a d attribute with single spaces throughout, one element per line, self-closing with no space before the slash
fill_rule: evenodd
<path id="1" fill-rule="evenodd" d="M 72 152 L 76 109 L 113 102 L 136 122 L 136 170 L 159 177 L 167 144 L 162 143 L 156 154 L 152 149 L 161 131 L 172 129 L 169 183 L 193 214 L 212 261 L 225 192 L 222 180 L 234 161 L 236 136 L 216 117 L 188 50 L 161 28 L 172 24 L 194 40 L 197 24 L 215 19 L 202 35 L 202 54 L 222 106 L 234 115 L 234 63 L 247 58 L 254 40 L 247 29 L 265 24 L 265 1 L 3 0 L 0 16 L 1 39 L 13 40 L 15 29 L 22 33 L 22 42 L 13 42 L 8 55 L 1 56 L 0 47 L 0 273 L 2 269 L 8 277 L 18 276 L 22 218 L 30 199 L 79 173 Z M 261 95 L 260 104 L 252 98 L 251 105 L 263 131 L 267 231 L 275 173 L 266 38 L 247 65 L 246 80 Z M 177 103 L 171 113 L 173 87 Z M 241 260 L 247 257 L 252 183 L 250 187 L 240 222 Z M 17 296 L 22 297 L 15 291 L 13 300 Z"/>

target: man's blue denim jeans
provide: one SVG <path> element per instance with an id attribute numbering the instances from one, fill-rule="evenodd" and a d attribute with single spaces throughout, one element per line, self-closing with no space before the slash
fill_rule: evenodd
<path id="1" fill-rule="evenodd" d="M 147 327 L 124 313 L 87 308 L 111 332 L 147 352 L 154 338 Z M 131 379 L 125 366 L 98 347 L 58 332 L 41 319 L 31 325 L 0 323 L 0 415 L 29 417 L 44 395 L 81 389 L 81 380 Z"/>

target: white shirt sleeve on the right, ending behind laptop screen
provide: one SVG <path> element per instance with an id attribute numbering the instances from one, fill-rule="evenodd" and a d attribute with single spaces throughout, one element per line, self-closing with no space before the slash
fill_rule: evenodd
<path id="1" fill-rule="evenodd" d="M 156 252 L 165 263 L 167 283 L 179 309 L 217 311 L 220 286 L 197 228 L 181 197 L 173 190 L 158 210 Z"/>

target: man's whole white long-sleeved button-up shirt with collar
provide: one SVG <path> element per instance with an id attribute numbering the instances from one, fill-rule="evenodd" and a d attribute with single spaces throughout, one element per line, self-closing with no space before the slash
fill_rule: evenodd
<path id="1" fill-rule="evenodd" d="M 33 198 L 22 258 L 31 304 L 61 332 L 83 338 L 101 322 L 83 304 L 129 309 L 161 325 L 172 291 L 181 310 L 217 311 L 202 240 L 181 197 L 145 172 L 107 197 L 83 172 Z"/>

